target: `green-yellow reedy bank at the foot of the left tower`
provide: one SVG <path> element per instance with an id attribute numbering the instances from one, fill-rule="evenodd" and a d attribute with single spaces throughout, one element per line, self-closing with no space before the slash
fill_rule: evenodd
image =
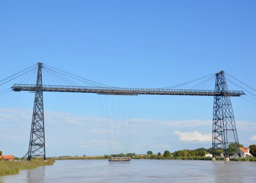
<path id="1" fill-rule="evenodd" d="M 47 159 L 44 162 L 41 158 L 32 159 L 31 161 L 0 161 L 0 176 L 12 175 L 19 173 L 19 170 L 36 168 L 38 166 L 53 165 L 55 160 Z"/>

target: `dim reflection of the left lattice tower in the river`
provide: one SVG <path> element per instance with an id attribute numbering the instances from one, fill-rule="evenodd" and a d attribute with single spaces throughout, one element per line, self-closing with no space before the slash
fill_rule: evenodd
<path id="1" fill-rule="evenodd" d="M 45 167 L 40 166 L 36 169 L 27 170 L 27 179 L 28 183 L 43 183 L 45 182 Z"/>

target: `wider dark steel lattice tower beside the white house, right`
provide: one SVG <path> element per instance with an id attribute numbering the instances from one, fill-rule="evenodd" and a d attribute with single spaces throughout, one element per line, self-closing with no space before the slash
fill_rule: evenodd
<path id="1" fill-rule="evenodd" d="M 214 156 L 216 150 L 223 149 L 224 156 L 227 157 L 231 153 L 237 153 L 239 143 L 237 138 L 233 109 L 229 96 L 229 91 L 224 76 L 224 71 L 216 74 L 215 91 L 221 92 L 221 95 L 214 96 L 213 104 L 213 123 L 212 123 L 212 154 Z M 234 143 L 234 148 L 228 148 Z"/>

